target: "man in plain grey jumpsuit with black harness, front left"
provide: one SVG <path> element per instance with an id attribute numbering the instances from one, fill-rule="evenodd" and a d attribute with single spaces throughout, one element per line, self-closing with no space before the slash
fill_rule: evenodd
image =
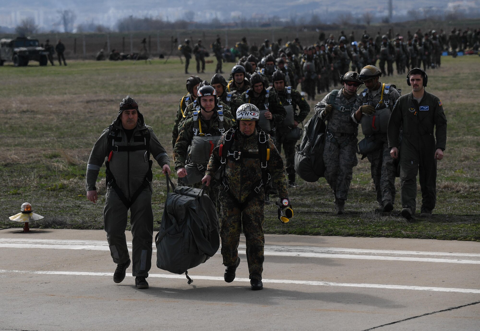
<path id="1" fill-rule="evenodd" d="M 96 203 L 96 179 L 105 161 L 107 194 L 103 221 L 108 246 L 117 269 L 113 281 L 120 283 L 130 266 L 125 228 L 128 210 L 132 225 L 132 275 L 135 286 L 148 288 L 148 271 L 152 261 L 153 212 L 152 212 L 152 160 L 170 174 L 170 160 L 150 126 L 145 125 L 138 104 L 127 96 L 120 103 L 118 117 L 103 131 L 96 141 L 86 172 L 87 199 Z"/>

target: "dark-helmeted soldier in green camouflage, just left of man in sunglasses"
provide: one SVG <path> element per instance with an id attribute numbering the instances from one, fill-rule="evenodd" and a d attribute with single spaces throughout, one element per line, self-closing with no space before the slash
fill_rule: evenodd
<path id="1" fill-rule="evenodd" d="M 301 129 L 299 123 L 307 117 L 310 112 L 310 105 L 305 98 L 300 95 L 299 91 L 294 90 L 290 86 L 286 86 L 285 73 L 277 70 L 272 76 L 275 91 L 280 102 L 287 111 L 285 120 L 276 126 L 276 149 L 278 153 L 283 151 L 287 163 L 288 186 L 295 187 L 295 144 L 300 138 Z"/>

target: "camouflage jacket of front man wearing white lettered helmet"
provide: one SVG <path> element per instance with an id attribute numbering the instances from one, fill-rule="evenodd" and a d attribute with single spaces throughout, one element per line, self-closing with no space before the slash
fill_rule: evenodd
<path id="1" fill-rule="evenodd" d="M 224 175 L 228 181 L 231 194 L 242 203 L 252 192 L 255 194 L 254 189 L 262 179 L 260 159 L 240 158 L 240 160 L 234 160 L 227 158 L 227 163 L 225 166 L 222 166 L 219 146 L 224 143 L 224 138 L 225 135 L 220 138 L 218 145 L 214 148 L 205 174 L 214 177 L 216 172 L 225 171 Z M 258 153 L 258 132 L 256 130 L 255 133 L 248 137 L 236 130 L 233 140 L 231 151 L 250 154 Z M 287 178 L 285 177 L 283 160 L 273 140 L 269 139 L 268 142 L 270 145 L 270 159 L 267 163 L 267 171 L 272 177 L 273 186 L 278 190 L 278 196 L 280 198 L 288 198 Z"/>

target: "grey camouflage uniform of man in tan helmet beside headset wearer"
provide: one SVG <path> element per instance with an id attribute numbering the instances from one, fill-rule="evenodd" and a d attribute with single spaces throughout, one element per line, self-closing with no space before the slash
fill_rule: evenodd
<path id="1" fill-rule="evenodd" d="M 380 88 L 375 91 L 370 90 L 363 90 L 363 92 L 367 92 L 366 99 L 363 98 L 363 103 L 371 105 L 373 107 L 377 107 L 378 102 L 382 96 L 382 83 L 380 83 Z M 360 94 L 360 105 L 362 93 Z M 390 112 L 392 112 L 393 106 L 395 105 L 396 100 L 400 98 L 400 92 L 394 87 L 390 86 L 390 92 L 388 93 L 388 108 Z M 379 109 L 386 108 L 385 105 L 382 108 L 381 106 Z M 356 111 L 354 109 L 353 111 Z M 362 114 L 362 117 L 366 116 Z M 353 118 L 353 117 L 352 117 Z M 388 147 L 388 138 L 387 134 L 385 133 L 377 133 L 375 135 L 375 139 L 381 141 L 380 146 L 377 150 L 372 153 L 367 154 L 367 158 L 370 161 L 370 170 L 372 173 L 373 183 L 375 184 L 375 191 L 377 192 L 377 201 L 380 207 L 383 206 L 385 200 L 390 200 L 393 205 L 395 205 L 395 166 L 392 157 L 390 156 L 390 148 Z"/>

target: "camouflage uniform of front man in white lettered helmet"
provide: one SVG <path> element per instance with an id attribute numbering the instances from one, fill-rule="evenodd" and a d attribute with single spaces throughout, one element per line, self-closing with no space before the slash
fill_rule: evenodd
<path id="1" fill-rule="evenodd" d="M 217 147 L 214 148 L 206 174 L 214 178 L 215 173 L 223 171 L 219 145 L 224 143 L 224 137 L 220 138 Z M 239 130 L 235 132 L 232 151 L 241 153 L 258 153 L 258 132 L 245 136 Z M 271 181 L 276 186 L 279 196 L 288 198 L 287 181 L 285 178 L 285 167 L 282 158 L 276 147 L 269 139 L 270 159 L 267 163 Z M 250 279 L 262 279 L 264 263 L 264 232 L 262 224 L 264 221 L 264 185 L 255 192 L 262 179 L 262 168 L 260 159 L 241 158 L 235 160 L 227 159 L 225 164 L 224 179 L 228 183 L 227 190 L 222 189 L 219 193 L 220 219 L 222 239 L 222 256 L 225 266 L 234 266 L 238 258 L 238 245 L 240 232 L 243 228 L 247 244 L 247 262 Z"/>

